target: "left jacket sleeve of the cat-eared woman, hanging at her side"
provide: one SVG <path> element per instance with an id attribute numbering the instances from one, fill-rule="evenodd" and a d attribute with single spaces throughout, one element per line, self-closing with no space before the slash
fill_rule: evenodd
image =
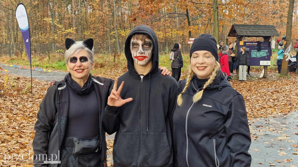
<path id="1" fill-rule="evenodd" d="M 32 148 L 35 155 L 46 154 L 48 150 L 48 135 L 53 128 L 57 113 L 56 86 L 50 86 L 42 100 L 37 113 L 37 121 L 34 126 L 35 136 Z M 34 164 L 35 167 L 47 166 L 46 164 Z"/>

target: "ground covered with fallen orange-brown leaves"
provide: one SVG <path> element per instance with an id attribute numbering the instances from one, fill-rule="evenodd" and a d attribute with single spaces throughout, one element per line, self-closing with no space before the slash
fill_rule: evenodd
<path id="1" fill-rule="evenodd" d="M 100 76 L 117 78 L 125 70 L 109 69 Z M 252 71 L 251 73 L 259 73 Z M 93 74 L 96 75 L 96 74 Z M 287 114 L 298 110 L 298 73 L 290 73 L 289 79 L 276 77 L 276 71 L 268 72 L 269 79 L 251 77 L 250 81 L 231 81 L 232 87 L 240 92 L 246 102 L 250 120 Z M 181 79 L 186 74 L 182 74 Z M 32 166 L 32 164 L 4 164 L 4 154 L 27 154 L 32 151 L 34 124 L 39 105 L 49 87 L 48 82 L 33 79 L 31 96 L 30 78 L 1 73 L 0 75 L 0 166 Z M 112 152 L 113 140 L 108 139 L 108 154 Z M 109 162 L 109 166 L 112 164 Z"/>

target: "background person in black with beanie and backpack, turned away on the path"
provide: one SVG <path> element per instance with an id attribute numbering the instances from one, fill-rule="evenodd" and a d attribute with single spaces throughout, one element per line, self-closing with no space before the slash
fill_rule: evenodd
<path id="1" fill-rule="evenodd" d="M 174 48 L 171 49 L 171 52 L 174 52 L 174 59 L 171 63 L 172 68 L 172 77 L 179 81 L 181 75 L 181 68 L 183 67 L 183 58 L 181 54 L 181 45 L 179 43 L 174 44 Z"/>

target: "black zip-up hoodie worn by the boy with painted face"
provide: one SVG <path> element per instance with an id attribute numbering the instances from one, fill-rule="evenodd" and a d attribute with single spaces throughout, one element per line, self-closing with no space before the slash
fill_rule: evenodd
<path id="1" fill-rule="evenodd" d="M 148 34 L 153 41 L 153 65 L 142 79 L 134 69 L 130 52 L 130 41 L 134 34 Z M 114 166 L 173 166 L 170 116 L 179 86 L 173 77 L 163 76 L 158 68 L 155 32 L 145 25 L 134 28 L 125 41 L 125 56 L 128 72 L 118 78 L 118 83 L 125 81 L 121 98 L 132 97 L 133 101 L 121 107 L 108 105 L 103 116 L 106 132 L 117 132 L 113 147 Z M 112 89 L 113 86 L 110 92 Z"/>

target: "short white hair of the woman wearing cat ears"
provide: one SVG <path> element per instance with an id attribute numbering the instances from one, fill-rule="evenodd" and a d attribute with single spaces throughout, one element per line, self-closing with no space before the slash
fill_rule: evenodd
<path id="1" fill-rule="evenodd" d="M 89 53 L 90 58 L 90 64 L 94 62 L 94 48 L 92 48 L 92 51 L 87 48 L 86 44 L 83 43 L 83 41 L 77 41 L 75 42 L 68 50 L 65 51 L 64 58 L 66 61 L 66 64 L 68 64 L 68 59 L 73 54 L 77 54 L 79 51 L 85 50 Z"/>

